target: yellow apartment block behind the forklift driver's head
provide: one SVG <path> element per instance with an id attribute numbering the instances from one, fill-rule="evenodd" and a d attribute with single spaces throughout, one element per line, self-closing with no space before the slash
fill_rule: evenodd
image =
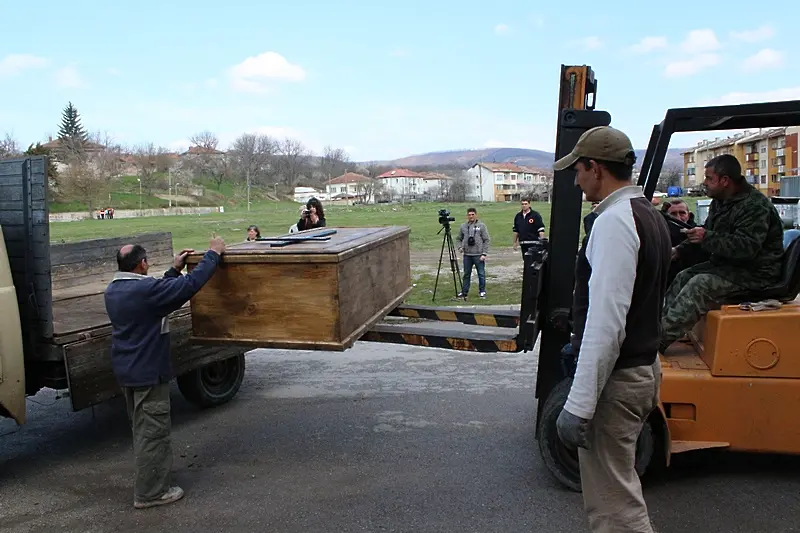
<path id="1" fill-rule="evenodd" d="M 748 130 L 701 141 L 683 152 L 683 187 L 700 187 L 705 164 L 718 155 L 732 154 L 742 165 L 748 183 L 767 196 L 777 196 L 781 178 L 798 175 L 799 132 L 798 127 Z"/>

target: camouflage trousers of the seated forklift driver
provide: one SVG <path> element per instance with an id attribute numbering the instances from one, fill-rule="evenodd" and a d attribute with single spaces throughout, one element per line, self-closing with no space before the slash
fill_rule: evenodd
<path id="1" fill-rule="evenodd" d="M 691 268 L 678 274 L 664 297 L 661 352 L 691 330 L 715 302 L 743 291 L 743 287 L 714 274 L 694 273 Z"/>

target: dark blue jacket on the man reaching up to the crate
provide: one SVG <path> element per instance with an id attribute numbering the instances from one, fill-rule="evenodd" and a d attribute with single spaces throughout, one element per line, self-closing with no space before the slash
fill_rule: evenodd
<path id="1" fill-rule="evenodd" d="M 111 319 L 111 366 L 123 387 L 151 387 L 173 378 L 169 319 L 217 269 L 220 256 L 209 250 L 185 276 L 174 268 L 156 279 L 117 272 L 105 291 Z"/>

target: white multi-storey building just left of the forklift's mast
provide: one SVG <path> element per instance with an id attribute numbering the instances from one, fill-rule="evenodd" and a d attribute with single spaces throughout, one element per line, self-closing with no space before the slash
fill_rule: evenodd
<path id="1" fill-rule="evenodd" d="M 476 163 L 467 175 L 467 198 L 481 202 L 515 202 L 535 186 L 549 187 L 542 171 L 513 163 Z"/>

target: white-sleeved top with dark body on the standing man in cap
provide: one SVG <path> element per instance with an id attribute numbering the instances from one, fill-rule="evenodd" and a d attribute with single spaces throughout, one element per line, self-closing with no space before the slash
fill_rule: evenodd
<path id="1" fill-rule="evenodd" d="M 589 309 L 575 378 L 564 408 L 585 419 L 616 366 L 657 356 L 671 242 L 666 222 L 638 186 L 623 187 L 595 208 L 586 260 Z"/>

